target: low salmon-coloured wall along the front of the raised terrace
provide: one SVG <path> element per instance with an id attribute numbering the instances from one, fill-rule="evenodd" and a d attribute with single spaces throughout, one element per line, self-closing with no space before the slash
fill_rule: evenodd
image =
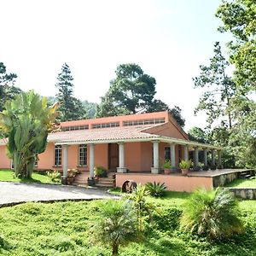
<path id="1" fill-rule="evenodd" d="M 127 180 L 135 181 L 136 183 L 145 184 L 165 183 L 167 190 L 178 192 L 192 192 L 197 187 L 205 187 L 212 189 L 212 177 L 184 177 L 164 174 L 137 174 L 137 173 L 117 173 L 116 186 L 122 187 Z"/>

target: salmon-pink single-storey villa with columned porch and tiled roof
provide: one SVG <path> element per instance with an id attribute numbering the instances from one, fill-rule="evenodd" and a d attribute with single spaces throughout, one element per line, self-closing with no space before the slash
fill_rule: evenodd
<path id="1" fill-rule="evenodd" d="M 0 140 L 0 168 L 9 169 L 11 160 L 5 154 L 6 141 Z M 166 183 L 168 190 L 192 191 L 197 186 L 207 189 L 214 177 L 230 175 L 234 170 L 189 172 L 184 177 L 178 171 L 180 160 L 189 160 L 193 152 L 195 166 L 199 151 L 204 164 L 221 166 L 221 149 L 189 141 L 188 135 L 168 112 L 141 113 L 99 119 L 84 119 L 61 123 L 61 131 L 51 133 L 43 154 L 38 155 L 38 170 L 59 170 L 67 177 L 68 169 L 78 169 L 79 182 L 94 177 L 94 167 L 103 166 L 115 174 L 116 186 L 127 180 L 136 183 Z M 211 164 L 208 164 L 208 153 Z M 171 160 L 172 174 L 163 174 L 162 162 Z M 217 161 L 217 162 L 215 162 Z"/>

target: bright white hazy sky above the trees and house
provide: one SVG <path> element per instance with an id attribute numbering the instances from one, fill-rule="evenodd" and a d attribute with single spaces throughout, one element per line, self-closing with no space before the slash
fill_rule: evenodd
<path id="1" fill-rule="evenodd" d="M 0 61 L 17 73 L 17 86 L 56 93 L 64 62 L 74 94 L 100 102 L 121 63 L 134 62 L 156 79 L 156 97 L 183 109 L 185 130 L 204 127 L 194 116 L 200 90 L 192 78 L 212 57 L 220 0 L 0 0 Z"/>

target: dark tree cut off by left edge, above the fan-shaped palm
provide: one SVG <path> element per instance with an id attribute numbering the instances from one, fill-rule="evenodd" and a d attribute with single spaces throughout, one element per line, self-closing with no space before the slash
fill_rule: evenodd
<path id="1" fill-rule="evenodd" d="M 17 75 L 6 73 L 6 67 L 0 62 L 0 111 L 3 111 L 4 102 L 13 99 L 21 90 L 14 86 Z"/>

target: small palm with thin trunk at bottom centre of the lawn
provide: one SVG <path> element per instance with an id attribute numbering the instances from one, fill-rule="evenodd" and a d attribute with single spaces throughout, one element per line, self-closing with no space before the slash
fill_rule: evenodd
<path id="1" fill-rule="evenodd" d="M 94 230 L 97 241 L 112 246 L 112 255 L 118 255 L 119 246 L 137 241 L 137 216 L 131 202 L 102 203 Z"/>

